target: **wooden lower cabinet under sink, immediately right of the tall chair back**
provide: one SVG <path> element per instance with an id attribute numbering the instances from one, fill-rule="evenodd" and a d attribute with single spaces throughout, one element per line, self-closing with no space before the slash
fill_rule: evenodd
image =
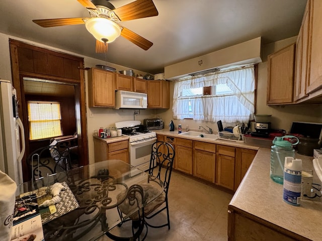
<path id="1" fill-rule="evenodd" d="M 192 174 L 192 143 L 188 139 L 176 138 L 175 169 Z"/>

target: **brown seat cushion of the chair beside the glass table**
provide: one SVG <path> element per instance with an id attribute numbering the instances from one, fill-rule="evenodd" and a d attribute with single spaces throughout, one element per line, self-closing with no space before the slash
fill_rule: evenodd
<path id="1" fill-rule="evenodd" d="M 143 189 L 144 215 L 148 215 L 149 213 L 153 212 L 156 208 L 158 208 L 162 203 L 165 202 L 166 196 L 163 192 L 158 197 L 156 197 L 153 201 L 150 201 L 153 197 L 155 197 L 155 195 L 157 195 L 159 193 L 159 190 L 149 183 L 143 183 L 143 184 L 140 184 L 140 186 Z M 125 192 L 119 193 L 117 195 L 117 199 L 124 198 L 124 195 L 126 195 Z M 138 199 L 138 203 L 140 205 L 141 204 L 141 196 L 139 195 L 139 193 L 136 194 L 136 198 Z M 145 205 L 145 203 L 147 203 L 147 204 Z M 137 205 L 130 205 L 128 199 L 125 199 L 119 205 L 119 209 L 121 210 L 122 213 L 127 215 L 127 214 L 133 212 L 134 209 L 137 209 Z M 140 212 L 140 214 L 141 214 L 141 212 Z M 130 218 L 133 220 L 138 220 L 139 219 L 138 212 L 131 214 Z"/>

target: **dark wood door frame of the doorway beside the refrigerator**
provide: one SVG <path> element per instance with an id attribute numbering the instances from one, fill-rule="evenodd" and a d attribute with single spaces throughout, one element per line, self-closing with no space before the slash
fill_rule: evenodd
<path id="1" fill-rule="evenodd" d="M 61 52 L 56 52 L 53 50 L 37 47 L 34 45 L 30 45 L 24 42 L 20 42 L 17 40 L 9 39 L 10 45 L 10 56 L 11 56 L 11 70 L 12 70 L 12 81 L 13 85 L 17 91 L 17 99 L 18 99 L 18 111 L 22 113 L 22 123 L 24 126 L 28 123 L 27 116 L 27 105 L 25 102 L 25 92 L 24 92 L 24 82 L 23 77 L 33 77 L 38 79 L 48 79 L 52 81 L 59 81 L 65 83 L 72 83 L 75 85 L 75 115 L 76 115 L 76 132 L 78 137 L 78 156 L 79 156 L 79 165 L 84 166 L 89 164 L 89 155 L 88 155 L 88 136 L 87 136 L 87 118 L 86 118 L 86 92 L 85 92 L 85 76 L 84 76 L 84 58 L 73 56 Z M 73 61 L 78 61 L 78 71 L 79 71 L 79 79 L 73 78 L 65 78 L 65 77 L 57 77 L 48 74 L 39 74 L 34 72 L 26 72 L 20 71 L 18 57 L 18 48 L 27 48 L 31 50 L 36 50 L 38 52 L 43 52 L 46 54 L 51 54 L 55 56 L 59 56 L 65 59 L 71 59 Z M 21 60 L 22 61 L 22 60 Z M 28 60 L 28 61 L 32 61 Z M 46 63 L 44 63 L 46 64 Z M 29 133 L 27 129 L 25 129 L 25 137 L 29 137 Z M 27 144 L 28 142 L 26 142 Z M 29 150 L 29 145 L 26 146 L 26 150 Z M 26 151 L 27 152 L 27 151 Z M 23 157 L 23 177 L 24 181 L 28 181 L 31 178 L 31 174 L 28 171 L 27 163 L 26 163 L 26 154 Z"/>

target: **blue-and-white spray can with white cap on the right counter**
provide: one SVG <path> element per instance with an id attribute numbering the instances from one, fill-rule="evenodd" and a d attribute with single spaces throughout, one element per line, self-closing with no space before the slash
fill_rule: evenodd
<path id="1" fill-rule="evenodd" d="M 302 160 L 285 157 L 283 200 L 291 205 L 299 206 L 302 186 Z"/>

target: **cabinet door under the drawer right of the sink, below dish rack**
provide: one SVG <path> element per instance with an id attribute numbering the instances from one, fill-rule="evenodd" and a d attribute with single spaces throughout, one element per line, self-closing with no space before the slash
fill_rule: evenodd
<path id="1" fill-rule="evenodd" d="M 216 184 L 233 190 L 235 158 L 217 154 L 216 166 Z"/>

